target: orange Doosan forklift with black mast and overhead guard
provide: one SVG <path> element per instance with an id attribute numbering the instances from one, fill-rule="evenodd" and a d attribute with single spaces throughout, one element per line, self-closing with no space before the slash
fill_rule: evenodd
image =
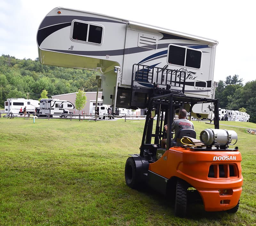
<path id="1" fill-rule="evenodd" d="M 168 130 L 164 137 L 164 125 L 171 128 L 175 113 L 185 108 L 191 116 L 192 108 L 202 103 L 214 112 L 214 129 L 203 130 L 200 140 L 192 129 L 182 129 L 174 138 Z M 172 197 L 179 217 L 186 216 L 188 204 L 198 201 L 205 211 L 235 213 L 243 185 L 242 157 L 238 147 L 229 147 L 237 140 L 236 132 L 219 129 L 218 105 L 216 99 L 177 93 L 152 97 L 140 153 L 131 154 L 125 164 L 126 184 L 133 189 L 148 186 Z M 166 148 L 161 148 L 163 138 Z"/>

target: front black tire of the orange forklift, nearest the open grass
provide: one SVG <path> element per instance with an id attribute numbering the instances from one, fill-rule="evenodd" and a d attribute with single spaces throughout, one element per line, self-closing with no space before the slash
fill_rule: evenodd
<path id="1" fill-rule="evenodd" d="M 133 189 L 139 187 L 139 176 L 136 170 L 136 164 L 132 157 L 129 157 L 125 163 L 124 176 L 126 184 Z"/>

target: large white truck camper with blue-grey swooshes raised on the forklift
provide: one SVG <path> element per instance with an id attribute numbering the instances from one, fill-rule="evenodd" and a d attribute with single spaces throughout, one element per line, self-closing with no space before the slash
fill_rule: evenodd
<path id="1" fill-rule="evenodd" d="M 151 97 L 170 92 L 212 97 L 218 44 L 212 39 L 57 7 L 36 40 L 42 64 L 97 71 L 103 104 L 114 109 L 145 108 Z M 193 112 L 209 114 L 208 106 Z"/>

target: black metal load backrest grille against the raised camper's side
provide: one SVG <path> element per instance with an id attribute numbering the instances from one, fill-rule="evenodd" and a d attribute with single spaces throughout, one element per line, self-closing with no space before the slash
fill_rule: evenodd
<path id="1" fill-rule="evenodd" d="M 132 88 L 160 88 L 177 90 L 184 94 L 186 72 L 168 68 L 134 64 Z"/>

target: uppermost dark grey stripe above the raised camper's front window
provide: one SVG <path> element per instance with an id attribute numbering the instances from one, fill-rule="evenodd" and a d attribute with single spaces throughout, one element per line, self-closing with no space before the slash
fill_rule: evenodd
<path id="1" fill-rule="evenodd" d="M 116 20 L 112 20 L 112 19 L 97 18 L 97 17 L 60 16 L 60 15 L 58 15 L 58 16 L 45 17 L 38 29 L 41 29 L 43 27 L 49 27 L 49 26 L 56 25 L 56 24 L 71 23 L 73 19 L 84 20 L 86 22 L 97 21 L 97 22 L 111 22 L 111 23 L 126 24 L 126 22 L 116 21 Z"/>

